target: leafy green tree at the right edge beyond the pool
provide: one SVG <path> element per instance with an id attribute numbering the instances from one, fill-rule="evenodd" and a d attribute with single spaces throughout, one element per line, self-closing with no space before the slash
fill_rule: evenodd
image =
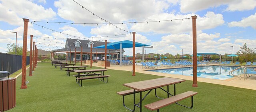
<path id="1" fill-rule="evenodd" d="M 239 55 L 239 62 L 252 62 L 254 60 L 254 57 L 256 57 L 255 50 L 252 48 L 248 48 L 246 43 L 242 47 L 240 47 L 240 50 L 236 52 L 236 54 Z"/>

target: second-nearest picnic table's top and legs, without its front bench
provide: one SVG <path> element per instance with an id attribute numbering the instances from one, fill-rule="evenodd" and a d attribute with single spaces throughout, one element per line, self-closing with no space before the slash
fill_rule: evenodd
<path id="1" fill-rule="evenodd" d="M 107 71 L 107 70 L 108 70 L 108 69 L 90 69 L 90 70 L 74 70 L 74 72 L 78 73 L 77 78 L 80 78 L 80 73 L 85 73 L 85 75 L 83 75 L 83 77 L 84 77 L 84 76 L 89 76 L 88 74 L 90 74 L 90 73 L 99 76 L 99 75 L 98 75 L 97 73 L 95 73 L 95 72 L 101 72 L 101 75 L 104 76 L 104 72 Z M 78 81 L 76 80 L 76 82 L 79 83 L 79 80 L 78 80 Z"/>

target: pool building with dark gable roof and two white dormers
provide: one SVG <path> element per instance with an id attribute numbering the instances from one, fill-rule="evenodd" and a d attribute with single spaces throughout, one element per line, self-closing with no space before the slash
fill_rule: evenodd
<path id="1" fill-rule="evenodd" d="M 110 42 L 107 42 L 110 43 Z M 94 48 L 96 46 L 101 46 L 105 45 L 105 42 L 100 42 L 100 41 L 91 41 L 91 40 L 78 40 L 78 39 L 67 39 L 65 48 L 62 49 L 57 49 L 57 50 L 52 50 L 51 57 L 54 57 L 54 54 L 57 52 L 65 52 L 67 53 L 67 60 L 81 60 L 81 46 L 82 46 L 82 60 L 90 60 L 90 51 L 91 51 L 91 46 L 92 46 L 92 60 L 96 60 L 96 55 L 99 60 L 104 59 L 105 57 L 105 49 L 104 48 Z M 76 54 L 75 54 L 76 51 Z M 125 52 L 122 49 L 122 52 Z M 112 49 L 107 49 L 107 59 L 117 59 L 119 54 L 120 54 L 120 49 L 119 50 L 112 50 Z"/>

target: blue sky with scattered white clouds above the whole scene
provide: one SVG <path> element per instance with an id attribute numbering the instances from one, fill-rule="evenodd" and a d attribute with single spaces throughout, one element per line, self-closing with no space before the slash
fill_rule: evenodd
<path id="1" fill-rule="evenodd" d="M 255 50 L 256 0 L 0 0 L 0 52 L 15 43 L 11 31 L 23 45 L 27 18 L 28 51 L 30 35 L 38 49 L 55 50 L 67 38 L 132 41 L 136 32 L 136 42 L 153 46 L 146 54 L 192 54 L 191 16 L 197 16 L 197 52 L 232 54 L 233 46 L 236 54 L 244 43 Z M 132 55 L 132 48 L 124 50 Z"/>

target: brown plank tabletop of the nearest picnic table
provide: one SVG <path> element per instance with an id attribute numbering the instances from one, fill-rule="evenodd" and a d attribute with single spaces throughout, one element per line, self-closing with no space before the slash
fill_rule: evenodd
<path id="1" fill-rule="evenodd" d="M 138 91 L 146 91 L 146 90 L 160 88 L 163 86 L 168 86 L 168 85 L 172 85 L 172 84 L 176 84 L 184 81 L 185 80 L 183 79 L 164 77 L 164 78 L 156 78 L 152 80 L 126 83 L 126 84 L 123 84 L 123 86 L 132 88 Z"/>

